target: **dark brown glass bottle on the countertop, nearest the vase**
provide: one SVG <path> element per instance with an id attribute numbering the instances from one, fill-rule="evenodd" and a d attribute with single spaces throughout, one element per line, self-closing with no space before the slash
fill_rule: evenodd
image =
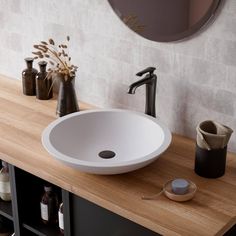
<path id="1" fill-rule="evenodd" d="M 53 96 L 52 78 L 46 72 L 46 61 L 40 61 L 39 73 L 36 75 L 36 97 L 40 100 L 48 100 Z"/>

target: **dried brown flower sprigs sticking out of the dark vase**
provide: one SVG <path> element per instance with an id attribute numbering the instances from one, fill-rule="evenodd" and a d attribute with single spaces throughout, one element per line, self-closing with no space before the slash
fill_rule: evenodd
<path id="1" fill-rule="evenodd" d="M 66 40 L 69 42 L 70 37 L 67 36 Z M 50 38 L 48 42 L 41 41 L 39 44 L 35 44 L 34 48 L 37 49 L 37 51 L 32 52 L 35 56 L 34 59 L 44 58 L 50 63 L 51 68 L 48 69 L 48 75 L 60 74 L 65 80 L 75 76 L 78 67 L 71 64 L 67 43 L 56 44 Z"/>

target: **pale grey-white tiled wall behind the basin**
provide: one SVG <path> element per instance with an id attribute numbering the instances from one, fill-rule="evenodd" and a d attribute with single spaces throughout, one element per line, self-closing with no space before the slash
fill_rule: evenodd
<path id="1" fill-rule="evenodd" d="M 235 130 L 235 152 L 235 2 L 226 0 L 215 22 L 191 39 L 157 43 L 126 28 L 106 0 L 0 0 L 0 73 L 20 79 L 34 43 L 70 35 L 81 100 L 143 111 L 144 88 L 135 95 L 127 88 L 137 71 L 156 66 L 158 116 L 189 137 L 200 121 L 222 122 Z"/>

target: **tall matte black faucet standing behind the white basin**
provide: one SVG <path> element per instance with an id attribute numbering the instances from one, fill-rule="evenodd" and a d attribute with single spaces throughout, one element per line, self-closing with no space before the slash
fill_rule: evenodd
<path id="1" fill-rule="evenodd" d="M 153 73 L 156 68 L 148 67 L 145 70 L 138 72 L 137 76 L 142 76 L 148 73 L 143 79 L 134 82 L 129 87 L 129 94 L 134 94 L 137 87 L 146 84 L 146 106 L 145 113 L 156 117 L 156 84 L 157 76 Z"/>

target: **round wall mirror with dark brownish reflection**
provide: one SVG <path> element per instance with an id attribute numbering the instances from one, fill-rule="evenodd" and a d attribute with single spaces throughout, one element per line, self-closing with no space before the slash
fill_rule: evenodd
<path id="1" fill-rule="evenodd" d="M 222 0 L 108 0 L 120 19 L 141 36 L 176 41 L 202 28 Z"/>

